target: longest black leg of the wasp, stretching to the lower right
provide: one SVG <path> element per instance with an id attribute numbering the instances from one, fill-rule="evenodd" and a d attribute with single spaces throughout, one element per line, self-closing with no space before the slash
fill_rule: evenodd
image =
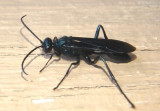
<path id="1" fill-rule="evenodd" d="M 110 68 L 108 67 L 106 61 L 104 60 L 104 58 L 102 56 L 97 56 L 93 61 L 91 61 L 90 57 L 89 56 L 85 56 L 85 61 L 88 63 L 88 64 L 96 64 L 98 60 L 102 60 L 103 63 L 105 64 L 108 72 L 109 72 L 109 75 L 110 75 L 110 78 L 111 78 L 111 82 L 114 83 L 116 85 L 116 87 L 118 88 L 118 90 L 121 92 L 121 94 L 125 97 L 125 99 L 129 102 L 129 104 L 131 105 L 132 108 L 135 108 L 134 104 L 129 100 L 129 98 L 125 95 L 125 93 L 123 92 L 123 90 L 121 89 L 121 87 L 119 86 L 117 80 L 115 79 L 114 75 L 112 74 Z"/>

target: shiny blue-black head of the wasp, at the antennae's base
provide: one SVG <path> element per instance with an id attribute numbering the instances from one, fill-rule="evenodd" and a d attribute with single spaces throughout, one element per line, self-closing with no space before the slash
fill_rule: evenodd
<path id="1" fill-rule="evenodd" d="M 50 38 L 46 38 L 44 40 L 43 50 L 44 50 L 45 53 L 48 53 L 48 52 L 52 51 L 52 40 Z"/>

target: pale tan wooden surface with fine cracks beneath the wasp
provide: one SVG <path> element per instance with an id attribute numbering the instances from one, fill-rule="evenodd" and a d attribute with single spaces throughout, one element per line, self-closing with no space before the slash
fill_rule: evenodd
<path id="1" fill-rule="evenodd" d="M 0 111 L 133 110 L 104 71 L 81 61 L 58 90 L 73 61 L 53 61 L 42 73 L 47 57 L 30 58 L 21 77 L 24 56 L 40 43 L 23 28 L 20 18 L 43 40 L 72 35 L 93 37 L 102 24 L 111 39 L 134 45 L 137 58 L 129 63 L 108 61 L 122 89 L 137 111 L 160 110 L 159 0 L 1 0 Z M 57 59 L 57 57 L 54 57 Z M 26 61 L 27 63 L 27 61 Z M 102 62 L 97 65 L 105 69 Z"/>

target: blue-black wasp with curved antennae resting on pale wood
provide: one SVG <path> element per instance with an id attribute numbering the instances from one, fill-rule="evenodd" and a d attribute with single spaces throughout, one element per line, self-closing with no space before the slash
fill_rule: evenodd
<path id="1" fill-rule="evenodd" d="M 26 15 L 21 17 L 21 22 L 24 25 L 25 28 L 28 29 L 30 33 L 34 35 L 35 38 L 37 38 L 41 45 L 35 47 L 32 49 L 23 59 L 21 67 L 22 71 L 28 75 L 24 70 L 24 62 L 27 59 L 27 57 L 34 52 L 38 48 L 42 48 L 43 51 L 46 54 L 51 53 L 49 60 L 45 64 L 45 66 L 40 70 L 40 72 L 45 69 L 45 67 L 48 65 L 49 61 L 52 59 L 53 55 L 56 54 L 57 56 L 61 57 L 61 55 L 74 57 L 76 59 L 75 62 L 71 63 L 68 70 L 66 71 L 64 77 L 62 80 L 58 83 L 58 85 L 54 88 L 57 89 L 60 84 L 64 81 L 64 79 L 69 75 L 69 71 L 72 66 L 77 66 L 80 64 L 81 58 L 85 60 L 85 62 L 89 65 L 95 65 L 99 60 L 103 61 L 111 82 L 115 84 L 115 86 L 118 88 L 118 90 L 121 92 L 121 94 L 125 97 L 125 99 L 129 102 L 132 108 L 135 108 L 135 105 L 129 100 L 129 98 L 125 95 L 123 90 L 121 89 L 120 85 L 118 84 L 115 76 L 111 72 L 108 64 L 106 63 L 104 57 L 102 55 L 127 55 L 130 52 L 133 52 L 136 50 L 134 46 L 132 46 L 129 43 L 120 41 L 120 40 L 113 40 L 108 39 L 106 32 L 102 25 L 98 25 L 96 33 L 94 38 L 84 38 L 84 37 L 72 37 L 72 36 L 63 36 L 61 38 L 54 37 L 53 40 L 49 37 L 45 38 L 44 41 L 39 39 L 39 37 L 33 33 L 33 31 L 24 23 L 23 19 Z M 100 29 L 103 32 L 104 39 L 98 38 Z M 94 59 L 91 59 L 91 55 L 96 55 Z"/>

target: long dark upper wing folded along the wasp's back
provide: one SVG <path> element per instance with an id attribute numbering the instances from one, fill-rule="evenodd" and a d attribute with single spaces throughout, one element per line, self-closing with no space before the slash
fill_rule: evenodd
<path id="1" fill-rule="evenodd" d="M 94 39 L 82 37 L 69 37 L 72 41 L 69 47 L 83 49 L 94 53 L 129 53 L 135 47 L 129 43 L 112 39 Z"/>

